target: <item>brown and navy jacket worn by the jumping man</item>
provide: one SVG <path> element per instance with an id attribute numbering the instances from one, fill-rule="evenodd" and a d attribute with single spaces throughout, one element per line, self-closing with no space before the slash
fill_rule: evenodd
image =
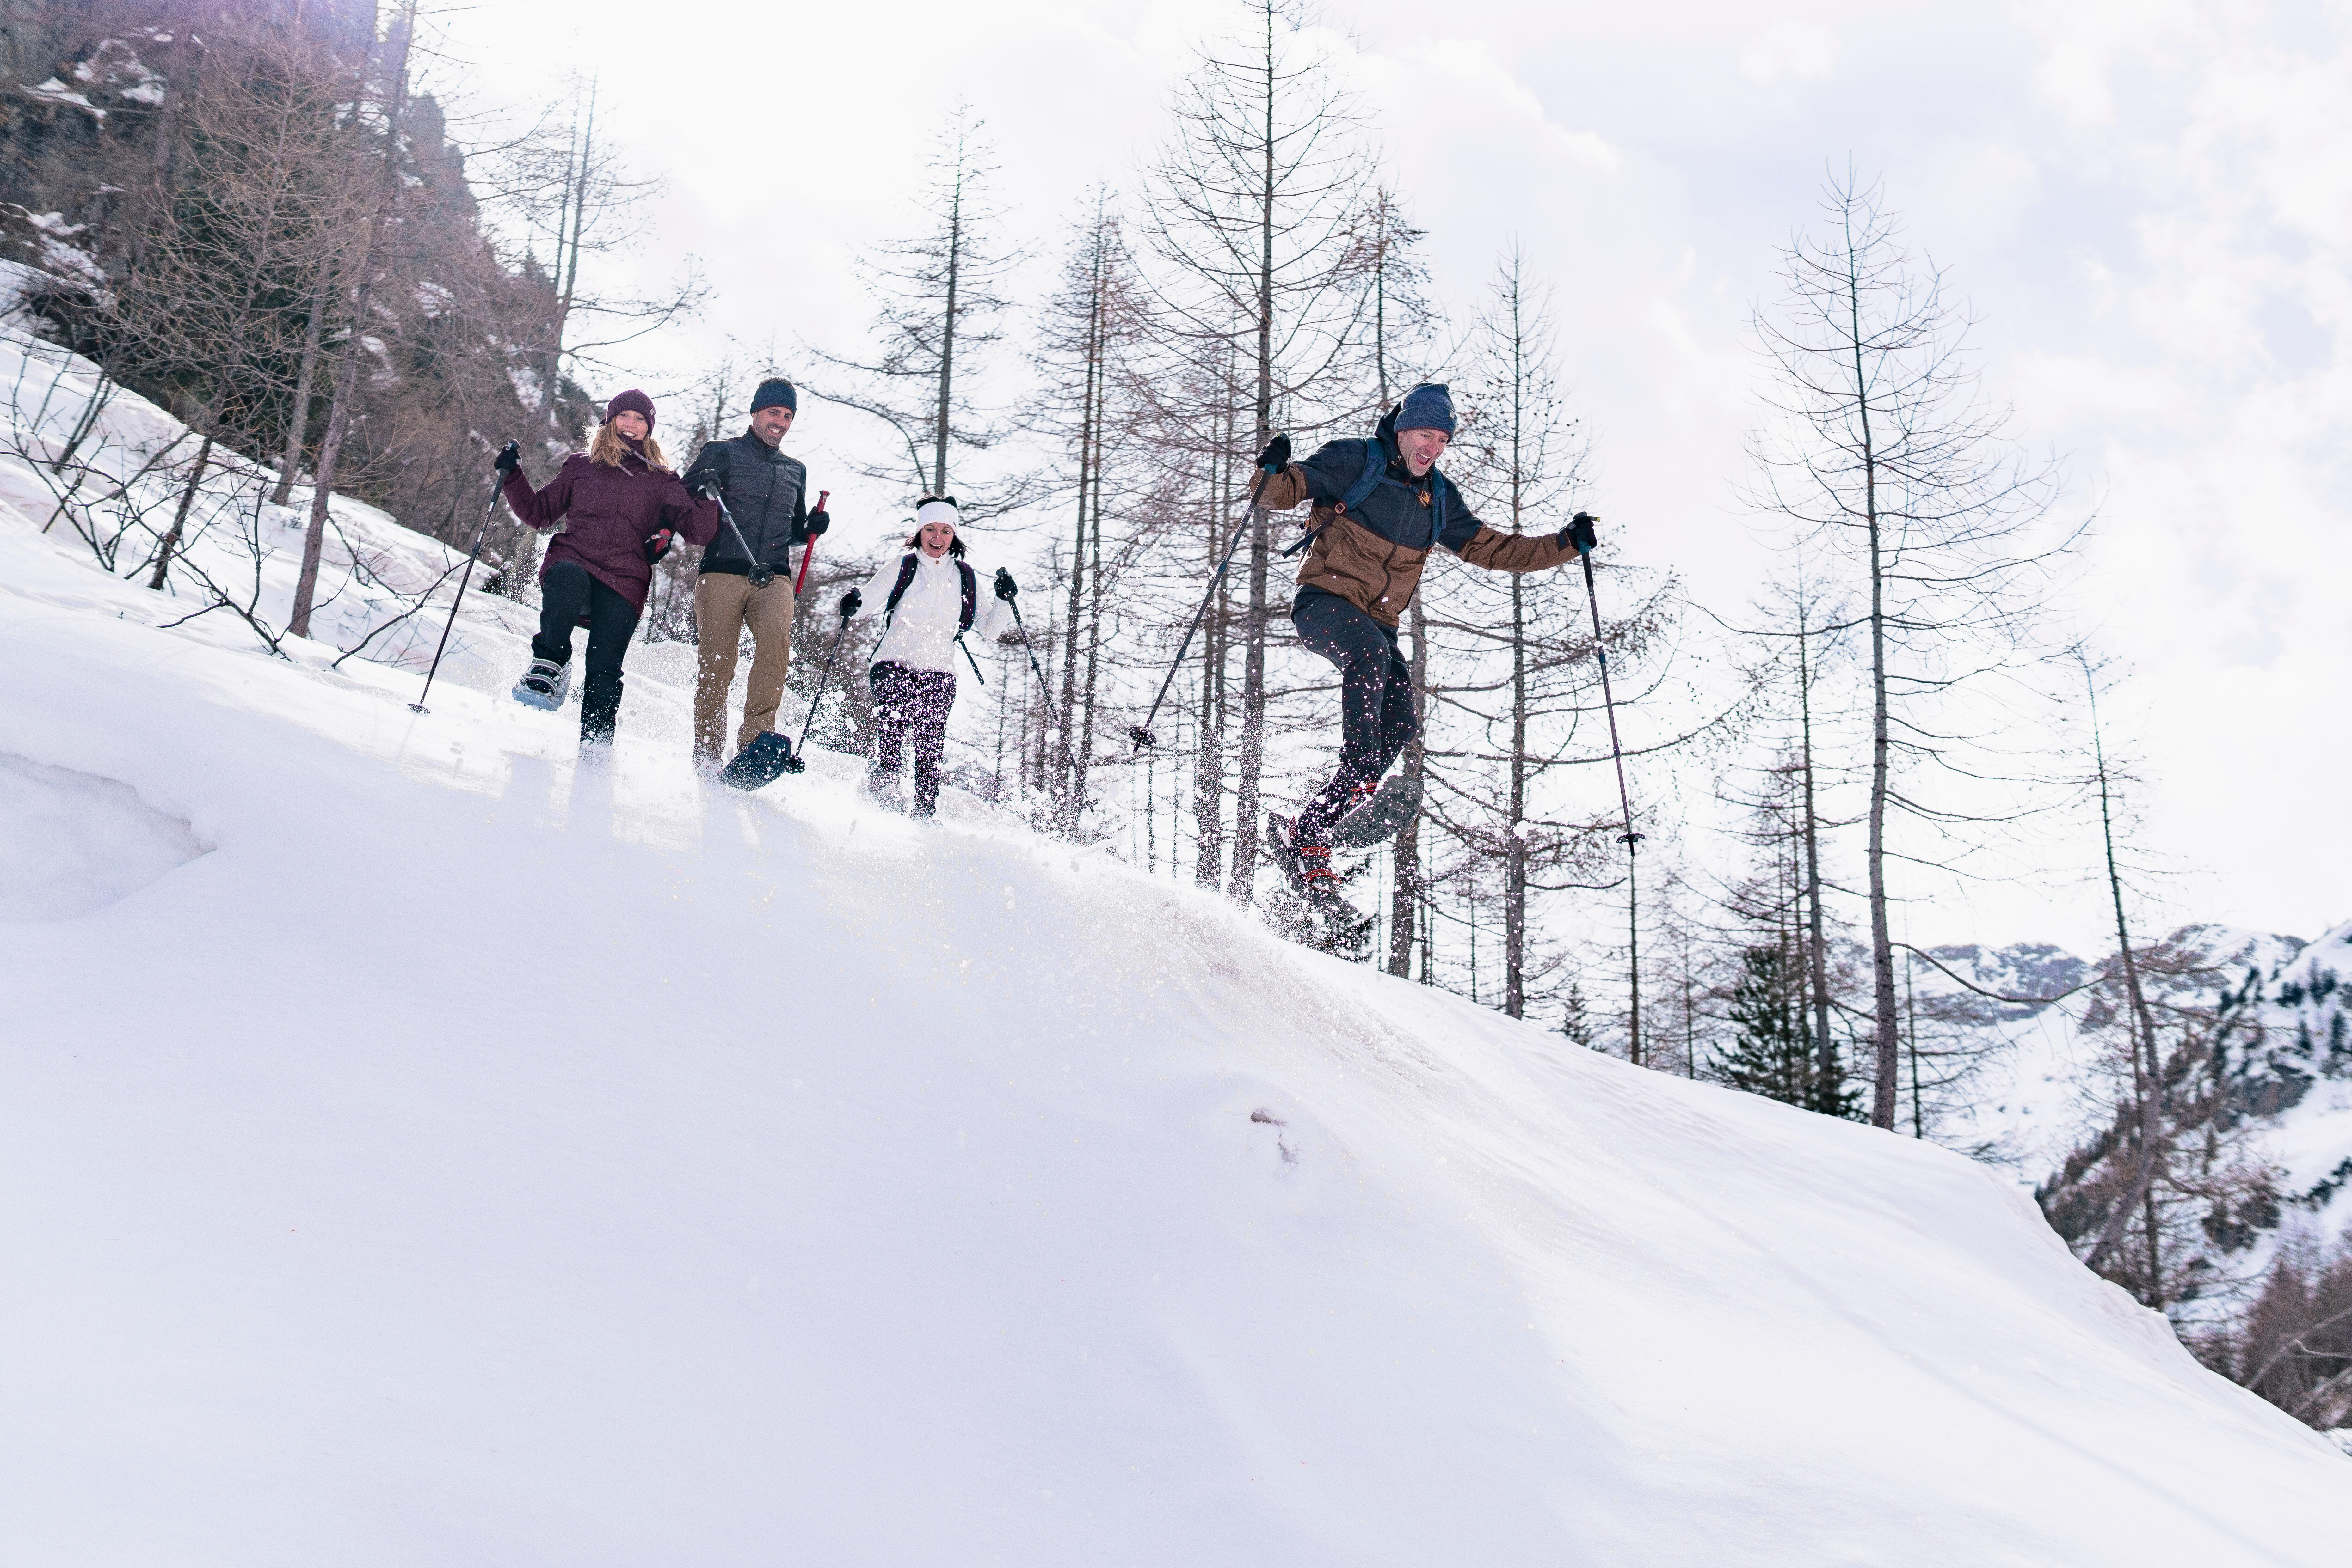
<path id="1" fill-rule="evenodd" d="M 1421 567 L 1437 545 L 1489 571 L 1543 571 L 1576 559 L 1573 545 L 1552 534 L 1496 534 L 1435 468 L 1414 480 L 1397 458 L 1388 418 L 1374 440 L 1385 449 L 1388 468 L 1352 510 L 1343 508 L 1343 496 L 1364 475 L 1364 442 L 1324 442 L 1315 456 L 1291 463 L 1258 494 L 1270 512 L 1315 503 L 1308 515 L 1315 543 L 1298 562 L 1301 592 L 1338 595 L 1374 621 L 1397 625 L 1421 588 Z"/>

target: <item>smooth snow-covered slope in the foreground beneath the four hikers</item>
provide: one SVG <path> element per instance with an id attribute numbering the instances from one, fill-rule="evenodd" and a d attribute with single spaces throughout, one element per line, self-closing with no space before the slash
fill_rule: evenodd
<path id="1" fill-rule="evenodd" d="M 1957 1154 L 165 609 L 0 503 L 9 1563 L 2343 1561 Z"/>

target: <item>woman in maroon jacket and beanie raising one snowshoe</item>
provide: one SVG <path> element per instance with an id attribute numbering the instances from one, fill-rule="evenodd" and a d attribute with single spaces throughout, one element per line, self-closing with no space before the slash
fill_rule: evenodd
<path id="1" fill-rule="evenodd" d="M 588 684 L 581 686 L 581 741 L 612 741 L 621 715 L 621 654 L 644 614 L 654 562 L 682 534 L 708 545 L 720 531 L 715 501 L 696 501 L 654 444 L 654 400 L 628 390 L 604 404 L 588 451 L 574 451 L 546 489 L 522 477 L 515 444 L 499 454 L 506 503 L 534 529 L 564 531 L 539 567 L 539 635 L 515 701 L 562 708 L 572 684 L 572 628 L 588 625 Z"/>

